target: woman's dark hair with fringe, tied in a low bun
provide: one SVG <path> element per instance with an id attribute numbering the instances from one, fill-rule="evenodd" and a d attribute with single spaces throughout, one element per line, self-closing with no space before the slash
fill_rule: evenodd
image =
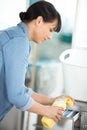
<path id="1" fill-rule="evenodd" d="M 55 7 L 47 1 L 41 0 L 32 4 L 26 12 L 21 12 L 19 16 L 22 22 L 30 22 L 38 16 L 42 16 L 44 22 L 53 22 L 53 20 L 57 19 L 58 24 L 55 31 L 59 32 L 61 29 L 60 14 Z"/>

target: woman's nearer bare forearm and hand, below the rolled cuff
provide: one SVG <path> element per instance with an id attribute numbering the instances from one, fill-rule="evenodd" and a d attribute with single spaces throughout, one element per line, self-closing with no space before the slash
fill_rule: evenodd
<path id="1" fill-rule="evenodd" d="M 55 122 L 57 122 L 61 119 L 64 109 L 56 106 L 42 105 L 38 102 L 35 102 L 27 111 L 36 113 L 38 115 L 47 116 L 48 118 L 52 118 Z"/>

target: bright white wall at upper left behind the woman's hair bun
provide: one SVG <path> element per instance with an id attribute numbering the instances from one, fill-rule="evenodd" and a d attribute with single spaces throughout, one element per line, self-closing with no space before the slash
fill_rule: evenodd
<path id="1" fill-rule="evenodd" d="M 0 29 L 16 25 L 19 13 L 25 11 L 27 0 L 0 0 Z"/>

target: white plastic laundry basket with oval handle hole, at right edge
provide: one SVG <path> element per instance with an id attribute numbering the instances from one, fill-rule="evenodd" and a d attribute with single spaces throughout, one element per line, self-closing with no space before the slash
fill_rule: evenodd
<path id="1" fill-rule="evenodd" d="M 87 102 L 87 49 L 68 49 L 60 55 L 64 93 Z"/>

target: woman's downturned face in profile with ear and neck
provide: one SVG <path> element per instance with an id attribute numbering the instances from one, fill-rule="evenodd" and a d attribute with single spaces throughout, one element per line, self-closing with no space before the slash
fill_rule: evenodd
<path id="1" fill-rule="evenodd" d="M 43 18 L 39 16 L 34 25 L 33 33 L 31 36 L 31 40 L 40 44 L 45 40 L 49 40 L 52 38 L 52 33 L 55 31 L 58 21 L 54 20 L 53 22 L 44 22 Z"/>

